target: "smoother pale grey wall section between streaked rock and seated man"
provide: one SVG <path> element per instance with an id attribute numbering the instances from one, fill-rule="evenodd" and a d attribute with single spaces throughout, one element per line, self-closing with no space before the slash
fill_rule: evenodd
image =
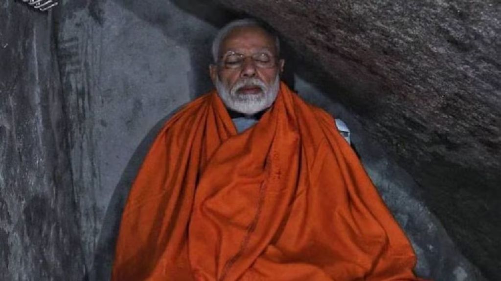
<path id="1" fill-rule="evenodd" d="M 168 1 L 155 4 L 68 1 L 59 11 L 71 169 L 91 280 L 109 277 L 121 208 L 159 126 L 209 89 L 210 79 L 198 77 L 208 71 L 200 54 L 214 27 Z M 160 14 L 148 20 L 150 10 Z"/>

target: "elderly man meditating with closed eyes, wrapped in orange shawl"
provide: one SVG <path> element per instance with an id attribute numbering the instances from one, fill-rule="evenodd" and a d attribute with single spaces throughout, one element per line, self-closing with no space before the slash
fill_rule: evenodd
<path id="1" fill-rule="evenodd" d="M 254 20 L 213 43 L 217 91 L 164 125 L 125 207 L 114 280 L 414 280 L 415 256 L 325 111 L 280 81 Z"/>

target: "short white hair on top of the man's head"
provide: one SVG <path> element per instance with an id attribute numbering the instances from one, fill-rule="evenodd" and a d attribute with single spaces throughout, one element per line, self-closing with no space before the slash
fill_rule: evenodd
<path id="1" fill-rule="evenodd" d="M 246 26 L 260 27 L 265 31 L 267 31 L 272 37 L 275 38 L 275 48 L 277 51 L 277 55 L 280 53 L 280 40 L 277 34 L 275 34 L 273 31 L 270 30 L 270 28 L 268 28 L 267 26 L 265 26 L 263 23 L 259 22 L 256 19 L 242 18 L 228 22 L 217 32 L 214 40 L 212 41 L 212 58 L 214 59 L 214 62 L 218 61 L 219 46 L 221 45 L 221 42 L 229 34 L 229 32 L 231 32 L 233 29 L 237 27 L 246 27 Z"/>

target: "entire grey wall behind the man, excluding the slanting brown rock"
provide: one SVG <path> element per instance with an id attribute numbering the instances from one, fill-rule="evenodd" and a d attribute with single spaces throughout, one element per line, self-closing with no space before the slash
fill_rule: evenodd
<path id="1" fill-rule="evenodd" d="M 44 14 L 13 1 L 0 12 L 8 43 L 0 58 L 9 65 L 0 70 L 0 279 L 107 280 L 130 181 L 168 114 L 211 88 L 211 39 L 239 14 L 197 0 L 61 1 Z M 348 123 L 413 243 L 416 272 L 482 280 L 428 210 L 414 174 L 394 161 L 388 141 L 398 136 L 375 134 L 357 110 L 377 108 L 339 97 L 359 86 L 341 87 L 311 63 L 308 45 L 285 38 L 289 83 Z"/>

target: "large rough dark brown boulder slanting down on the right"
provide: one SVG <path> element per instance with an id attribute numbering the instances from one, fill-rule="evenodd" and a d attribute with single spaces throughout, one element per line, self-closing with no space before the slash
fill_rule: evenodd
<path id="1" fill-rule="evenodd" d="M 323 69 L 308 80 L 358 115 L 466 256 L 501 278 L 499 1 L 217 2 Z"/>

